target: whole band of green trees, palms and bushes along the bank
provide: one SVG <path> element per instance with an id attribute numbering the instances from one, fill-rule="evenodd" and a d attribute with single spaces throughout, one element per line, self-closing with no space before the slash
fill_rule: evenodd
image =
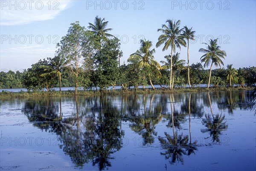
<path id="1" fill-rule="evenodd" d="M 120 65 L 120 40 L 109 34 L 112 28 L 107 28 L 105 18 L 96 17 L 94 23 L 89 23 L 85 28 L 79 22 L 71 23 L 67 34 L 57 44 L 53 58 L 39 60 L 31 68 L 23 72 L 0 72 L 0 88 L 27 88 L 29 91 L 38 91 L 59 86 L 74 86 L 85 89 L 93 87 L 100 91 L 109 86 L 122 85 L 126 90 L 130 86 L 135 89 L 139 85 L 160 84 L 169 89 L 188 84 L 189 87 L 200 86 L 207 83 L 212 85 L 251 86 L 256 84 L 256 67 L 233 68 L 232 64 L 224 66 L 223 60 L 226 52 L 218 46 L 218 40 L 204 43 L 206 48 L 202 52 L 201 63 L 189 65 L 189 40 L 195 37 L 195 31 L 187 26 L 180 28 L 180 20 L 167 20 L 157 31 L 162 34 L 158 38 L 156 47 L 163 46 L 163 51 L 171 49 L 171 54 L 166 55 L 166 61 L 160 61 L 161 66 L 154 60 L 155 49 L 150 40 L 140 40 L 140 48 L 130 55 L 128 63 Z M 176 49 L 187 47 L 187 61 L 180 60 Z M 176 53 L 175 53 L 176 52 Z M 199 59 L 198 59 L 199 60 Z M 220 68 L 213 69 L 212 65 Z M 166 88 L 168 88 L 166 87 Z"/>

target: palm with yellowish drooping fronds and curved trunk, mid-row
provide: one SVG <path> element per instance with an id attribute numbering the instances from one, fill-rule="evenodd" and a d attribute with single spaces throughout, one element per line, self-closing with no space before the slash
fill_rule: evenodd
<path id="1" fill-rule="evenodd" d="M 149 67 L 149 68 L 154 68 L 157 69 L 157 71 L 159 72 L 159 69 L 161 68 L 160 64 L 154 60 L 154 53 L 155 53 L 155 49 L 150 50 L 151 46 L 152 46 L 152 42 L 149 40 L 140 40 L 140 49 L 137 50 L 135 53 L 131 54 L 128 60 L 131 60 L 133 58 L 140 58 L 140 65 L 139 68 L 145 68 L 145 67 Z M 160 73 L 160 72 L 159 72 Z M 149 82 L 152 86 L 153 89 L 154 86 L 151 82 L 151 73 L 148 73 L 148 78 L 149 78 Z"/>

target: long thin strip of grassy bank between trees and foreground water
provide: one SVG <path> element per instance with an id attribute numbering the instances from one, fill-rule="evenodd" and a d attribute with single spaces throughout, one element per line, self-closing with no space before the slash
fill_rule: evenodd
<path id="1" fill-rule="evenodd" d="M 230 91 L 230 90 L 252 90 L 253 87 L 219 87 L 219 88 L 174 88 L 173 90 L 169 89 L 127 89 L 127 90 L 105 90 L 105 91 L 78 91 L 79 96 L 89 96 L 89 95 L 116 95 L 116 94 L 160 94 L 160 93 L 180 93 L 180 92 L 205 92 L 205 91 Z M 73 96 L 75 95 L 74 91 L 20 91 L 20 92 L 9 92 L 2 91 L 0 92 L 0 97 L 59 97 L 59 96 Z"/>

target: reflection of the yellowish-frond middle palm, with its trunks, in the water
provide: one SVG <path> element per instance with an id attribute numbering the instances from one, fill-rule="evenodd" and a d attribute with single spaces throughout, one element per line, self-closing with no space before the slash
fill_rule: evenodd
<path id="1" fill-rule="evenodd" d="M 146 95 L 143 95 L 143 114 L 136 115 L 130 119 L 130 127 L 133 131 L 137 132 L 143 137 L 143 145 L 154 142 L 154 136 L 157 136 L 155 132 L 155 125 L 162 119 L 161 104 L 156 103 L 153 105 L 155 94 L 151 95 L 149 107 L 147 108 Z"/>

